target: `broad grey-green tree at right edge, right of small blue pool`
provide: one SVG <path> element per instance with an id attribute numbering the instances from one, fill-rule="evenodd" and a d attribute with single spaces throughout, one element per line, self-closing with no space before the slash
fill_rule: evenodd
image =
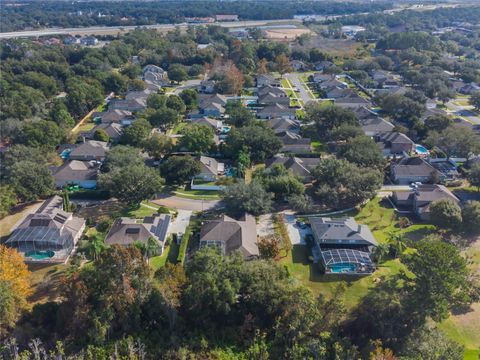
<path id="1" fill-rule="evenodd" d="M 441 132 L 432 132 L 425 143 L 438 146 L 445 152 L 447 158 L 455 155 L 469 159 L 480 150 L 480 137 L 459 125 L 449 126 Z"/>

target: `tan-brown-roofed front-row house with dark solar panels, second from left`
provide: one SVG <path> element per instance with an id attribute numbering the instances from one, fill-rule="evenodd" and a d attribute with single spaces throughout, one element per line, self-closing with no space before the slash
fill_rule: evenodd
<path id="1" fill-rule="evenodd" d="M 108 232 L 105 244 L 129 246 L 136 242 L 147 243 L 148 239 L 154 238 L 158 242 L 158 255 L 161 255 L 169 225 L 168 214 L 146 216 L 141 222 L 137 219 L 119 218 L 114 221 Z"/>

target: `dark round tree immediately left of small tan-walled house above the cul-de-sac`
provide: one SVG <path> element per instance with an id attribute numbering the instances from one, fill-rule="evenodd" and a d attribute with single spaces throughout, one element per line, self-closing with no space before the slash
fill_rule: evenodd
<path id="1" fill-rule="evenodd" d="M 168 184 L 183 184 L 200 170 L 200 162 L 191 156 L 170 156 L 160 165 L 160 174 Z"/>

